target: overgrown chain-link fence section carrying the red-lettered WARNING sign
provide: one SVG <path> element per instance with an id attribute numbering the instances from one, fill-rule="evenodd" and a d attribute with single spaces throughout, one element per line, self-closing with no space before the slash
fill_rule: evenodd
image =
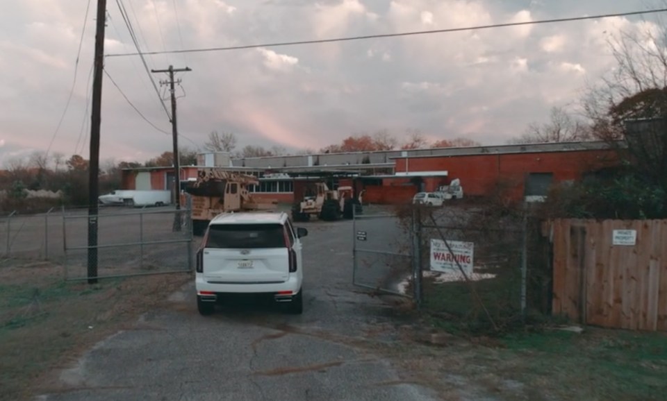
<path id="1" fill-rule="evenodd" d="M 440 323 L 466 332 L 499 332 L 526 323 L 536 312 L 549 313 L 548 246 L 529 210 L 404 205 L 393 216 L 397 234 L 385 224 L 378 241 L 402 244 L 402 255 L 409 257 L 387 257 L 390 268 L 375 271 L 402 272 L 402 288 Z M 409 274 L 413 268 L 415 275 Z"/>

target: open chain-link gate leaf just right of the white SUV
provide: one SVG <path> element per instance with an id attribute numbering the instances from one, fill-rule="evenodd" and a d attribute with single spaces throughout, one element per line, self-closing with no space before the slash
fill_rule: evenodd
<path id="1" fill-rule="evenodd" d="M 413 298 L 419 289 L 412 219 L 394 214 L 354 214 L 354 285 Z"/>

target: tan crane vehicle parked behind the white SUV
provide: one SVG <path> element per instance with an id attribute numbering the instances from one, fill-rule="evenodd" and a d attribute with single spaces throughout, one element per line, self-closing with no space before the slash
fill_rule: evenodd
<path id="1" fill-rule="evenodd" d="M 192 197 L 192 232 L 204 234 L 213 217 L 226 212 L 274 210 L 275 201 L 261 201 L 248 191 L 249 185 L 258 185 L 254 176 L 220 169 L 199 169 L 197 180 L 184 190 Z"/>

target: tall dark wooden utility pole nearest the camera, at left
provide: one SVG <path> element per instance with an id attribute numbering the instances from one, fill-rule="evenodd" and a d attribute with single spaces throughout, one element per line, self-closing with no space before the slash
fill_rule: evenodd
<path id="1" fill-rule="evenodd" d="M 106 0 L 97 0 L 92 110 L 90 112 L 90 165 L 88 170 L 88 284 L 97 283 L 97 214 L 99 191 L 99 130 L 102 110 L 102 73 L 104 71 L 104 28 Z"/>

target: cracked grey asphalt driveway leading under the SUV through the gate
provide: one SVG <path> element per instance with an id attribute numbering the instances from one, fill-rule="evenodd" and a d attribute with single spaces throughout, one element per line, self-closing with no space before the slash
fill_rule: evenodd
<path id="1" fill-rule="evenodd" d="M 302 226 L 302 316 L 242 300 L 199 316 L 190 283 L 85 352 L 38 399 L 438 400 L 373 346 L 400 341 L 401 323 L 352 285 L 352 223 Z"/>

